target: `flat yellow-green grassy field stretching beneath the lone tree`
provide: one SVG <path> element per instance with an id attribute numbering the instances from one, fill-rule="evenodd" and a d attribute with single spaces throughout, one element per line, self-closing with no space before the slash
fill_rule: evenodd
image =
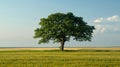
<path id="1" fill-rule="evenodd" d="M 0 48 L 0 67 L 120 67 L 120 49 Z"/>

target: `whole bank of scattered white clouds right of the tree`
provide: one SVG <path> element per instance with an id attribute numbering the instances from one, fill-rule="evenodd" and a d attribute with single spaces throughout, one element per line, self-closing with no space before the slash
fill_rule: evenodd
<path id="1" fill-rule="evenodd" d="M 120 31 L 120 17 L 118 15 L 113 15 L 110 17 L 100 17 L 93 20 L 95 24 L 95 33 L 104 33 L 105 31 Z M 109 24 L 111 22 L 111 24 Z M 105 24 L 104 24 L 105 23 Z"/>

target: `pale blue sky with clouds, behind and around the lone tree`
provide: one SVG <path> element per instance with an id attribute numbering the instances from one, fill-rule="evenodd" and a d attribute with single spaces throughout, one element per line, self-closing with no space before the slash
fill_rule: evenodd
<path id="1" fill-rule="evenodd" d="M 65 47 L 120 47 L 120 0 L 0 0 L 0 47 L 59 47 L 38 44 L 40 18 L 72 12 L 95 26 L 91 42 L 72 39 Z"/>

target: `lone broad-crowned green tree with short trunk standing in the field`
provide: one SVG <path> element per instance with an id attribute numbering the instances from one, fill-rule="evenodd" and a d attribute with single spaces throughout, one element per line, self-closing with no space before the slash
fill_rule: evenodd
<path id="1" fill-rule="evenodd" d="M 61 43 L 61 50 L 64 50 L 64 43 L 72 37 L 76 41 L 91 41 L 94 26 L 88 25 L 82 17 L 73 13 L 54 13 L 47 18 L 41 18 L 40 28 L 35 29 L 34 38 L 39 38 L 39 44 Z"/>

